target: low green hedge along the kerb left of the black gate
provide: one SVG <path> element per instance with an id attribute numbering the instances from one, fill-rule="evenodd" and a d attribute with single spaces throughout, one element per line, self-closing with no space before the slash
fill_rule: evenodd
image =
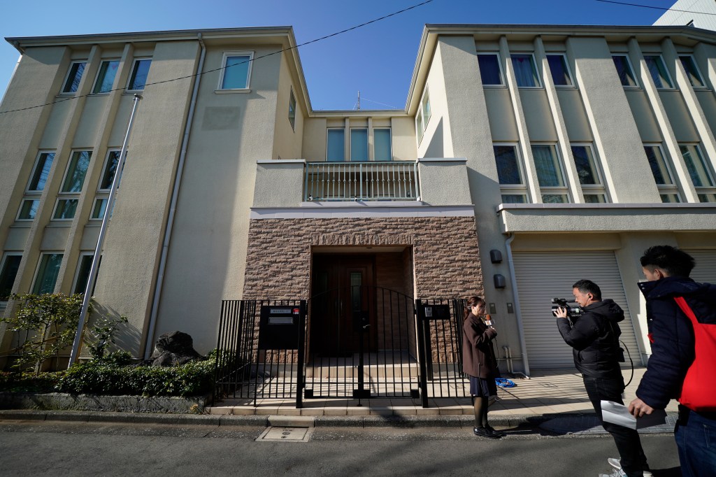
<path id="1" fill-rule="evenodd" d="M 213 354 L 208 360 L 192 361 L 175 367 L 131 366 L 128 353 L 112 353 L 107 357 L 78 363 L 69 370 L 43 373 L 45 389 L 32 389 L 30 377 L 0 375 L 0 390 L 47 391 L 54 384 L 55 392 L 94 395 L 197 396 L 213 391 Z M 34 381 L 38 381 L 36 378 Z M 47 382 L 45 382 L 47 381 Z"/>

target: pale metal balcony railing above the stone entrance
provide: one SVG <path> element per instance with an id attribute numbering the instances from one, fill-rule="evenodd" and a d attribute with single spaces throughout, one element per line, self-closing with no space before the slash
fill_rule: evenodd
<path id="1" fill-rule="evenodd" d="M 417 162 L 306 163 L 304 201 L 417 201 Z"/>

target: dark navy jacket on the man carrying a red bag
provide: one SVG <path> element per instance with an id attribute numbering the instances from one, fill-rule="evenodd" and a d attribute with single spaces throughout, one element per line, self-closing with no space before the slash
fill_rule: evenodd
<path id="1" fill-rule="evenodd" d="M 681 276 L 639 283 L 647 299 L 647 325 L 652 355 L 637 397 L 652 408 L 664 409 L 681 395 L 684 377 L 694 361 L 694 329 L 674 301 L 684 297 L 701 323 L 716 324 L 716 286 Z"/>

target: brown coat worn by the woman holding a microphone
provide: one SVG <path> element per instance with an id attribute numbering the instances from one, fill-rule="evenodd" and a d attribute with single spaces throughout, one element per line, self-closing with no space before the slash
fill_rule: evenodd
<path id="1" fill-rule="evenodd" d="M 463 372 L 470 376 L 488 379 L 497 377 L 497 360 L 492 340 L 497 336 L 494 328 L 470 313 L 463 323 Z"/>

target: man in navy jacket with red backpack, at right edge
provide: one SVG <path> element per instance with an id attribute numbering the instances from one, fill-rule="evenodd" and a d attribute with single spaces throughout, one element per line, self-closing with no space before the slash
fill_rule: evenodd
<path id="1" fill-rule="evenodd" d="M 652 355 L 629 412 L 639 418 L 679 400 L 674 437 L 684 476 L 716 476 L 716 286 L 689 278 L 695 261 L 672 246 L 641 259 Z"/>

